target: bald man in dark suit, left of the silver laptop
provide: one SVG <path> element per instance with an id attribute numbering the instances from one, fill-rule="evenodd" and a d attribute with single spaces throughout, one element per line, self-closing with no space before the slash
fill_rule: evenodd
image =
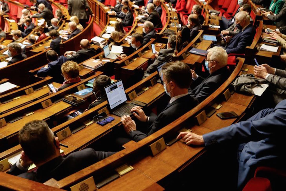
<path id="1" fill-rule="evenodd" d="M 75 51 L 65 52 L 67 60 L 72 60 L 80 64 L 81 62 L 96 55 L 96 50 L 94 48 L 90 48 L 90 43 L 87 39 L 82 39 L 80 41 L 80 48 L 81 50 L 79 50 L 78 52 Z"/>

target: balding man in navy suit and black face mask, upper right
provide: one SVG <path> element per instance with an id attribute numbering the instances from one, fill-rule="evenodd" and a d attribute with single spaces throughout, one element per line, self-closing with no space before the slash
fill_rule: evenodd
<path id="1" fill-rule="evenodd" d="M 235 15 L 236 27 L 241 31 L 233 38 L 226 36 L 227 54 L 245 53 L 246 46 L 250 46 L 255 36 L 255 28 L 250 23 L 250 17 L 247 12 L 240 11 Z"/>

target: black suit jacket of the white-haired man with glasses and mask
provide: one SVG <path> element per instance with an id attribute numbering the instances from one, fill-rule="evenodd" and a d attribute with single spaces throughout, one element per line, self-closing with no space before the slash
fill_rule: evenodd
<path id="1" fill-rule="evenodd" d="M 226 66 L 213 72 L 205 79 L 199 76 L 198 79 L 192 83 L 191 89 L 189 88 L 189 93 L 198 99 L 199 102 L 202 102 L 210 94 L 215 92 L 229 76 L 230 71 Z"/>

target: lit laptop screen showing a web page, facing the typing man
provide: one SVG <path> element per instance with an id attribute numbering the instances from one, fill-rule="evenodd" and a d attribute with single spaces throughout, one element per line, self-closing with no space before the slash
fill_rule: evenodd
<path id="1" fill-rule="evenodd" d="M 106 86 L 105 92 L 107 95 L 108 104 L 110 109 L 117 107 L 118 105 L 127 101 L 125 90 L 123 87 L 122 80 L 118 80 L 109 86 Z"/>

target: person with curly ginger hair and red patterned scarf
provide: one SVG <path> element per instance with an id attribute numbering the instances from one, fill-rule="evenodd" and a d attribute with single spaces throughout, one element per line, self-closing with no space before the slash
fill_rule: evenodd
<path id="1" fill-rule="evenodd" d="M 66 61 L 61 65 L 61 75 L 65 80 L 63 84 L 57 88 L 57 91 L 60 91 L 64 88 L 72 86 L 81 81 L 80 79 L 80 68 L 78 64 L 74 61 Z"/>

